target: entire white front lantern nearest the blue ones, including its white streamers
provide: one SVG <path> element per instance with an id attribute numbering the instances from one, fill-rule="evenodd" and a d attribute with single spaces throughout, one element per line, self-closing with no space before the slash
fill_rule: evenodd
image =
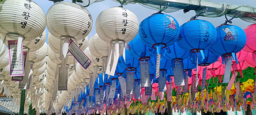
<path id="1" fill-rule="evenodd" d="M 137 16 L 123 7 L 111 7 L 102 11 L 96 20 L 96 32 L 100 39 L 110 43 L 106 74 L 114 76 L 118 63 L 119 51 L 125 52 L 125 43 L 134 39 L 138 33 Z"/>

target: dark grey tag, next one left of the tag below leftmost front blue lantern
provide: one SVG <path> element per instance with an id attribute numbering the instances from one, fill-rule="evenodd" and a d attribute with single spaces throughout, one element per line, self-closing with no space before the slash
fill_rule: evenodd
<path id="1" fill-rule="evenodd" d="M 134 89 L 134 72 L 126 72 L 127 85 L 126 93 L 132 94 Z"/>

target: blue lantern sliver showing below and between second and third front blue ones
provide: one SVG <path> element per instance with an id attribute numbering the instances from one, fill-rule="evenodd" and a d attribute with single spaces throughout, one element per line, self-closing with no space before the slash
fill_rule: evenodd
<path id="1" fill-rule="evenodd" d="M 219 55 L 215 55 L 212 52 L 210 52 L 208 49 L 206 49 L 204 51 L 205 53 L 205 59 L 201 59 L 198 56 L 198 65 L 199 66 L 209 66 L 210 64 L 216 62 L 219 59 Z M 191 58 L 190 58 L 191 59 Z M 197 64 L 197 60 L 190 60 L 191 62 L 193 62 L 194 64 Z"/>

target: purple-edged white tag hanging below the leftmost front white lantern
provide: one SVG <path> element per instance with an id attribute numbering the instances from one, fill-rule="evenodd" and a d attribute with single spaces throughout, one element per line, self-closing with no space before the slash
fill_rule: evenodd
<path id="1" fill-rule="evenodd" d="M 10 65 L 10 76 L 24 76 L 25 67 L 23 60 L 23 48 L 21 48 L 20 56 L 17 55 L 17 40 L 8 41 L 9 49 L 9 65 Z M 22 45 L 21 45 L 22 46 Z"/>

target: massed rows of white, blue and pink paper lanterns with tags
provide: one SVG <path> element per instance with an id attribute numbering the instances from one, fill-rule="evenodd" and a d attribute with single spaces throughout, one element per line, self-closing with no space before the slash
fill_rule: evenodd
<path id="1" fill-rule="evenodd" d="M 24 78 L 32 79 L 35 84 L 27 83 L 31 94 L 27 97 L 25 105 L 28 108 L 29 101 L 36 103 L 37 112 L 39 108 L 41 110 L 44 108 L 48 113 L 53 112 L 54 109 L 57 113 L 62 109 L 69 113 L 91 113 L 92 110 L 104 113 L 104 110 L 116 109 L 120 103 L 116 102 L 118 99 L 122 98 L 122 102 L 125 102 L 123 100 L 125 95 L 126 102 L 132 104 L 133 94 L 135 99 L 139 99 L 141 92 L 140 101 L 147 104 L 149 96 L 145 93 L 148 93 L 146 92 L 148 90 L 151 99 L 156 97 L 154 93 L 157 90 L 161 99 L 164 99 L 164 92 L 169 92 L 166 98 L 168 99 L 171 96 L 171 81 L 175 81 L 174 85 L 171 85 L 172 88 L 178 86 L 177 89 L 181 89 L 179 93 L 182 92 L 182 86 L 185 86 L 183 92 L 187 93 L 189 82 L 193 86 L 192 93 L 197 93 L 199 84 L 204 90 L 205 86 L 202 84 L 205 84 L 204 82 L 211 76 L 224 75 L 223 83 L 228 83 L 230 71 L 241 73 L 246 68 L 246 66 L 242 68 L 243 63 L 254 66 L 251 64 L 254 62 L 251 61 L 254 61 L 256 51 L 253 38 L 255 25 L 244 29 L 246 32 L 238 26 L 228 24 L 215 28 L 210 22 L 197 19 L 179 26 L 174 17 L 161 12 L 152 14 L 139 24 L 137 17 L 131 11 L 123 7 L 111 7 L 99 14 L 95 24 L 97 34 L 88 41 L 87 36 L 93 24 L 92 16 L 81 5 L 71 2 L 55 3 L 45 16 L 43 10 L 29 0 L 3 0 L 0 3 L 0 17 L 2 17 L 0 43 L 7 45 L 10 40 L 16 40 L 16 59 L 24 55 L 22 49 L 27 50 L 27 59 L 22 63 L 22 66 L 25 64 Z M 49 47 L 45 43 L 46 25 L 50 32 Z M 80 50 L 84 51 L 83 53 L 91 60 L 88 68 L 85 69 L 84 65 L 77 63 L 70 54 L 70 40 L 75 41 Z M 87 47 L 88 43 L 89 47 Z M 0 66 L 3 66 L 2 70 L 5 73 L 0 73 L 5 78 L 1 87 L 11 87 L 13 84 L 18 88 L 17 83 L 9 83 L 12 81 L 8 71 L 11 73 L 10 76 L 13 71 L 8 68 L 13 61 L 9 61 L 8 65 L 8 60 L 14 58 L 11 58 L 13 57 L 11 54 L 6 56 L 8 49 L 3 45 L 0 49 L 0 63 L 3 63 Z M 246 52 L 241 51 L 242 49 Z M 253 55 L 244 62 L 247 52 L 252 52 Z M 202 74 L 204 67 L 209 70 L 207 75 Z M 30 71 L 32 74 L 28 74 Z M 174 76 L 173 79 L 170 76 Z M 189 79 L 188 76 L 192 78 Z M 66 79 L 63 82 L 63 84 L 66 82 L 66 87 L 58 89 L 58 81 L 63 80 L 62 78 Z M 159 86 L 152 85 L 157 79 Z M 168 81 L 169 85 L 165 81 Z M 88 83 L 89 85 L 86 85 Z M 19 98 L 16 90 L 13 96 Z M 58 94 L 57 90 L 62 91 Z M 33 98 L 35 95 L 39 97 Z M 105 99 L 93 105 L 93 99 L 99 97 Z M 39 102 L 36 101 L 38 99 Z M 96 100 L 99 101 L 99 99 L 94 101 Z M 111 103 L 108 103 L 109 101 Z M 41 106 L 38 106 L 38 103 Z M 74 109 L 74 106 L 80 108 Z"/>

